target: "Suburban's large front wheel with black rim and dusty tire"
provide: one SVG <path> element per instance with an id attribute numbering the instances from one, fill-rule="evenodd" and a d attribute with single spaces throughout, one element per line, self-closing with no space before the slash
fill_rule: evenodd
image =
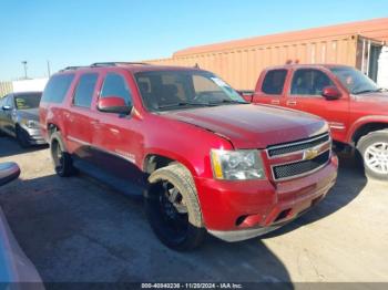
<path id="1" fill-rule="evenodd" d="M 172 164 L 152 173 L 149 182 L 145 211 L 159 239 L 178 251 L 198 247 L 206 230 L 191 173 Z"/>

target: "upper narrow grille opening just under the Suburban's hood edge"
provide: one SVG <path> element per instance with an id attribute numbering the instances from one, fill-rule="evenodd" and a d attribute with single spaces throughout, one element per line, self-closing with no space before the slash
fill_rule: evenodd
<path id="1" fill-rule="evenodd" d="M 277 157 L 277 156 L 304 151 L 307 148 L 312 148 L 312 147 L 321 145 L 324 143 L 327 143 L 329 141 L 330 141 L 329 134 L 325 133 L 323 135 L 318 135 L 304 141 L 298 141 L 298 142 L 287 143 L 287 144 L 276 145 L 276 146 L 269 146 L 267 148 L 267 152 L 269 157 Z"/>

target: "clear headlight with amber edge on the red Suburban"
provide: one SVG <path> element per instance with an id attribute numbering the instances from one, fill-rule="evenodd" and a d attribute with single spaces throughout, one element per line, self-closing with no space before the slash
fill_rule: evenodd
<path id="1" fill-rule="evenodd" d="M 211 151 L 213 174 L 216 179 L 246 180 L 265 178 L 258 151 Z"/>

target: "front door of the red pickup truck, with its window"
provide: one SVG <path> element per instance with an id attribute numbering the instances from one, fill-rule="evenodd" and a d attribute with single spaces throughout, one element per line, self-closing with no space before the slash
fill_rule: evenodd
<path id="1" fill-rule="evenodd" d="M 335 139 L 343 139 L 349 122 L 349 100 L 346 93 L 328 101 L 321 93 L 326 86 L 340 87 L 329 74 L 318 69 L 297 69 L 293 73 L 285 106 L 320 116 L 329 122 Z"/>

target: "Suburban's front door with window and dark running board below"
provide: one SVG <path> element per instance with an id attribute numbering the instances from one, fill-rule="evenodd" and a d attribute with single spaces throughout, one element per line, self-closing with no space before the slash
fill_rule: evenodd
<path id="1" fill-rule="evenodd" d="M 132 92 L 124 74 L 108 73 L 104 77 L 100 99 L 121 97 L 132 105 Z M 93 156 L 94 162 L 115 178 L 142 186 L 143 174 L 135 165 L 136 152 L 142 146 L 142 136 L 134 132 L 140 122 L 131 115 L 96 112 L 98 122 L 94 124 Z"/>

